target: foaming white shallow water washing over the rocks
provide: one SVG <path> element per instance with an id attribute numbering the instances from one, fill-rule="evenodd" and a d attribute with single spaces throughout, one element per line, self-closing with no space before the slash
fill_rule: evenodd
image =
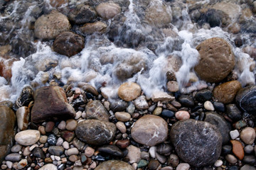
<path id="1" fill-rule="evenodd" d="M 57 9 L 64 14 L 68 8 L 88 1 L 69 1 Z M 124 1 L 114 1 L 122 4 L 122 13 L 107 23 L 105 34 L 85 35 L 85 48 L 73 57 L 66 57 L 54 52 L 51 48 L 53 40 L 41 41 L 33 37 L 33 23 L 43 13 L 48 13 L 55 7 L 50 6 L 50 0 L 44 1 L 11 1 L 1 10 L 0 16 L 0 46 L 11 45 L 12 50 L 7 55 L 18 59 L 11 65 L 12 77 L 6 81 L 0 77 L 1 101 L 15 101 L 23 86 L 31 85 L 34 89 L 48 86 L 51 79 L 60 84 L 88 82 L 102 91 L 109 91 L 110 98 L 117 98 L 117 89 L 124 81 L 137 82 L 146 94 L 151 97 L 153 91 L 166 91 L 166 72 L 176 74 L 178 84 L 183 93 L 205 86 L 200 80 L 191 82 L 185 88 L 191 77 L 195 77 L 193 67 L 199 60 L 196 46 L 208 38 L 220 37 L 227 40 L 235 54 L 236 72 L 243 86 L 255 84 L 254 70 L 250 70 L 255 62 L 249 55 L 242 52 L 242 47 L 256 46 L 255 34 L 250 31 L 240 31 L 242 46 L 235 46 L 238 35 L 230 33 L 227 28 L 219 26 L 210 28 L 209 24 L 191 20 L 191 6 L 201 4 L 210 6 L 215 1 L 200 1 L 186 3 L 181 1 L 133 1 L 129 5 Z M 246 4 L 236 1 L 240 11 Z M 96 3 L 97 4 L 97 3 Z M 151 10 L 151 11 L 150 11 Z M 171 23 L 161 23 L 153 14 L 164 13 Z M 231 11 L 232 12 L 232 11 Z M 23 15 L 20 15 L 20 14 Z M 149 18 L 147 18 L 149 17 Z M 163 20 L 165 21 L 165 19 Z M 112 36 L 112 28 L 118 28 Z M 80 33 L 78 26 L 73 26 L 75 33 Z M 254 35 L 254 36 L 252 36 Z M 23 45 L 22 45 L 23 44 Z M 176 56 L 181 61 L 181 67 L 175 70 L 169 63 L 169 57 Z M 171 66 L 170 66 L 171 65 Z M 61 74 L 61 79 L 55 75 Z M 44 77 L 48 79 L 44 80 Z"/>

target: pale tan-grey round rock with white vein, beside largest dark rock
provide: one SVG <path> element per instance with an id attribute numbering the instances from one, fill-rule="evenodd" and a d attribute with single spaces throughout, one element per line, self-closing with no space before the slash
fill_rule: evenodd
<path id="1" fill-rule="evenodd" d="M 168 125 L 157 115 L 144 115 L 134 124 L 131 133 L 136 142 L 151 147 L 166 140 Z"/>

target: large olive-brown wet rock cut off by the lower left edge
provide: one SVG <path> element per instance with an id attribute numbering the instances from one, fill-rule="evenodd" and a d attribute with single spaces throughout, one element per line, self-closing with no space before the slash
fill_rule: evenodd
<path id="1" fill-rule="evenodd" d="M 0 162 L 14 145 L 16 116 L 7 106 L 0 106 Z"/>

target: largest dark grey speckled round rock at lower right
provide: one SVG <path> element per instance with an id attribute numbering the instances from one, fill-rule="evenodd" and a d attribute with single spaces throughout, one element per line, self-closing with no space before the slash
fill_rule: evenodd
<path id="1" fill-rule="evenodd" d="M 211 165 L 220 157 L 223 139 L 210 123 L 180 120 L 172 125 L 170 136 L 178 157 L 191 166 Z"/>

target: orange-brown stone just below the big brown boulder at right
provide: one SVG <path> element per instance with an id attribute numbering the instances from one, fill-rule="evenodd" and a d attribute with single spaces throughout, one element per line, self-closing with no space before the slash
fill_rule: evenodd
<path id="1" fill-rule="evenodd" d="M 221 103 L 231 103 L 240 89 L 242 89 L 242 85 L 239 81 L 228 81 L 216 86 L 213 96 Z"/>

